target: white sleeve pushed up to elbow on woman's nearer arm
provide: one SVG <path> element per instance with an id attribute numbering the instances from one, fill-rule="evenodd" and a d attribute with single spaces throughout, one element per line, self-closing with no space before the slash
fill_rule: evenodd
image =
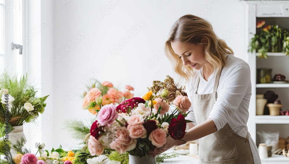
<path id="1" fill-rule="evenodd" d="M 208 117 L 214 121 L 218 130 L 228 123 L 242 101 L 247 101 L 247 108 L 249 107 L 251 97 L 249 65 L 240 62 L 232 67 Z M 242 111 L 238 111 L 238 114 L 242 114 Z"/>

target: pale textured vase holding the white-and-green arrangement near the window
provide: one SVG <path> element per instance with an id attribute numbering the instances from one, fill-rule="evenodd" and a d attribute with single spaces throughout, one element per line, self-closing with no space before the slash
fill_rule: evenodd
<path id="1" fill-rule="evenodd" d="M 12 145 L 16 145 L 17 141 L 21 141 L 21 138 L 24 138 L 24 143 L 26 143 L 26 137 L 23 133 L 23 125 L 20 126 L 13 126 L 13 130 L 8 134 L 9 135 L 9 141 Z M 16 156 L 17 152 L 11 148 L 11 155 L 12 157 Z"/>

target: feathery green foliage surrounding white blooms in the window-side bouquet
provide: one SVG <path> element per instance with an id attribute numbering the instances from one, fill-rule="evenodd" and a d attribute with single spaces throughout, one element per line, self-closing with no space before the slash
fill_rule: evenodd
<path id="1" fill-rule="evenodd" d="M 7 89 L 8 94 L 14 97 L 11 111 L 8 111 L 9 123 L 11 126 L 20 126 L 25 122 L 34 122 L 39 116 L 38 113 L 43 113 L 46 104 L 45 99 L 48 96 L 37 98 L 38 92 L 34 85 L 29 83 L 28 74 L 21 76 L 17 80 L 17 75 L 10 76 L 7 70 L 0 75 L 0 89 Z M 29 102 L 34 105 L 34 110 L 27 111 L 24 104 Z M 1 104 L 1 103 L 0 103 Z M 0 125 L 5 123 L 5 110 L 3 104 L 0 105 Z"/>

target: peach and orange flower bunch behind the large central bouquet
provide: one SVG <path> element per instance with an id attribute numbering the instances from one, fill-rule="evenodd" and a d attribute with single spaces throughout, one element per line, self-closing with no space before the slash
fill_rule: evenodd
<path id="1" fill-rule="evenodd" d="M 95 81 L 91 86 L 87 86 L 88 91 L 83 93 L 82 109 L 88 109 L 90 113 L 96 115 L 101 109 L 101 106 L 106 104 L 119 104 L 125 99 L 134 97 L 131 91 L 134 91 L 132 86 L 126 85 L 125 91 L 121 92 L 113 87 L 111 82 Z"/>

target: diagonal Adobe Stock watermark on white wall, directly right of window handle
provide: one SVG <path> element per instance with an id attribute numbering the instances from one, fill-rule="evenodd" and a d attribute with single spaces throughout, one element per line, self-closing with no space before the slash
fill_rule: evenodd
<path id="1" fill-rule="evenodd" d="M 60 50 L 60 53 L 56 54 L 55 56 L 55 59 L 51 59 L 52 60 L 52 63 L 53 65 L 55 65 L 55 63 L 57 63 L 61 58 L 63 58 L 63 56 L 77 43 L 79 42 L 80 38 L 82 38 L 83 36 L 85 35 L 85 33 L 83 31 L 79 31 L 78 32 L 78 35 L 71 39 L 69 42 L 68 42 L 68 46 L 66 46 L 64 49 L 61 49 Z"/>

